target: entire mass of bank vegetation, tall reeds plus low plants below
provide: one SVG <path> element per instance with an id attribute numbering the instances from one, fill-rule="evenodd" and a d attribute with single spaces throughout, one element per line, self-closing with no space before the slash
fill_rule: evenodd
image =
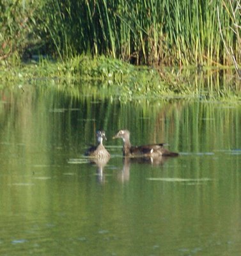
<path id="1" fill-rule="evenodd" d="M 231 68 L 225 77 L 235 85 L 219 94 L 240 95 L 240 10 L 238 0 L 2 0 L 0 77 L 79 77 L 179 95 L 196 93 L 190 70 Z"/>

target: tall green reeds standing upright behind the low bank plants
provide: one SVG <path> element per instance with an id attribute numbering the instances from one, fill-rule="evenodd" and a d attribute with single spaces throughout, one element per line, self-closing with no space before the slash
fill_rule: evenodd
<path id="1" fill-rule="evenodd" d="M 26 1 L 26 5 L 30 2 Z M 40 3 L 35 12 L 34 32 L 45 44 L 42 51 L 62 59 L 85 53 L 107 54 L 148 65 L 229 65 L 232 58 L 226 52 L 223 38 L 232 47 L 237 61 L 241 59 L 238 0 L 42 0 Z"/>

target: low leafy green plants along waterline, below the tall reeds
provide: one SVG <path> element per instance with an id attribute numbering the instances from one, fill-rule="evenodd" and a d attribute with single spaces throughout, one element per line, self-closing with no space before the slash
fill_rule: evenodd
<path id="1" fill-rule="evenodd" d="M 19 86 L 26 83 L 59 85 L 66 93 L 99 95 L 130 100 L 161 99 L 237 100 L 240 101 L 240 81 L 235 69 L 155 68 L 134 66 L 104 56 L 78 56 L 69 61 L 0 67 L 0 86 Z M 69 92 L 67 92 L 67 90 Z"/>

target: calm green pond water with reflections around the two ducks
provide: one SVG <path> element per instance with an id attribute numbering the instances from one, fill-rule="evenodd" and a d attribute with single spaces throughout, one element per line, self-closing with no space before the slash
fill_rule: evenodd
<path id="1" fill-rule="evenodd" d="M 1 90 L 0 255 L 240 255 L 240 105 L 23 88 Z M 123 161 L 120 128 L 180 157 Z"/>

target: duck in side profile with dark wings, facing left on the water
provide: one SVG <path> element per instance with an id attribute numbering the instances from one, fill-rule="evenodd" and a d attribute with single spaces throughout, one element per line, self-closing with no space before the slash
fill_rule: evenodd
<path id="1" fill-rule="evenodd" d="M 170 152 L 164 148 L 164 143 L 150 144 L 143 146 L 132 146 L 130 144 L 130 132 L 128 130 L 120 130 L 113 139 L 121 138 L 123 140 L 123 156 L 129 157 L 175 157 L 178 153 Z"/>

